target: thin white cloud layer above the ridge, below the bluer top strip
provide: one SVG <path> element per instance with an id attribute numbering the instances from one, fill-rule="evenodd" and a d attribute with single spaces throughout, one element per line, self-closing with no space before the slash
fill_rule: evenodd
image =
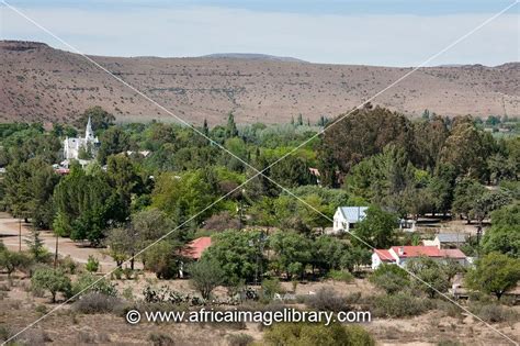
<path id="1" fill-rule="evenodd" d="M 2 8 L 4 38 L 54 38 Z M 316 63 L 414 66 L 493 15 L 312 15 L 224 8 L 94 11 L 22 9 L 81 52 L 196 56 L 222 52 L 294 56 Z M 518 16 L 506 13 L 430 65 L 519 59 Z"/>

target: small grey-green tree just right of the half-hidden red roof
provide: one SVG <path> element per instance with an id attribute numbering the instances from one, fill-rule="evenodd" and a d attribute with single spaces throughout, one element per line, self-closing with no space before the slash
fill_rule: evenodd
<path id="1" fill-rule="evenodd" d="M 224 281 L 221 265 L 211 259 L 201 259 L 188 266 L 192 286 L 203 299 L 210 299 L 212 291 Z"/>

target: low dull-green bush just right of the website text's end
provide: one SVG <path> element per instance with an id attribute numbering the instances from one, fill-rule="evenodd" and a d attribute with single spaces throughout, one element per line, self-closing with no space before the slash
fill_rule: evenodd
<path id="1" fill-rule="evenodd" d="M 377 317 L 417 316 L 430 308 L 430 302 L 409 292 L 384 294 L 373 298 L 372 311 Z"/>

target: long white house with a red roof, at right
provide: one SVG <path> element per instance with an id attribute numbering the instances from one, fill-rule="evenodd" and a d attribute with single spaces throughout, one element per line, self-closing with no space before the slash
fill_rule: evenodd
<path id="1" fill-rule="evenodd" d="M 439 248 L 437 246 L 392 246 L 389 249 L 375 249 L 372 253 L 372 269 L 382 264 L 395 264 L 404 267 L 412 258 L 428 257 L 434 260 L 455 260 L 467 265 L 467 257 L 457 248 Z"/>

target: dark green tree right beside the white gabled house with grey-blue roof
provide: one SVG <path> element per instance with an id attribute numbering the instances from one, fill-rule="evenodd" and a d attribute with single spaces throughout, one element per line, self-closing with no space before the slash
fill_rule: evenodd
<path id="1" fill-rule="evenodd" d="M 359 222 L 353 230 L 352 244 L 375 248 L 388 248 L 395 243 L 397 216 L 381 209 L 371 207 L 366 217 Z"/>

